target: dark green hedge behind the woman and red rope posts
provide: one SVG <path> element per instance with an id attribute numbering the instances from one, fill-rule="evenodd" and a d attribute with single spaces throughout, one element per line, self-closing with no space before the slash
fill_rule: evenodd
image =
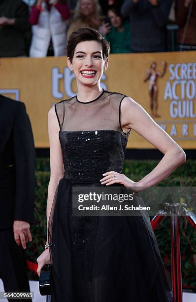
<path id="1" fill-rule="evenodd" d="M 126 160 L 124 174 L 131 180 L 138 181 L 150 173 L 158 164 L 158 160 Z M 45 245 L 46 228 L 46 202 L 47 186 L 50 178 L 48 158 L 36 160 L 36 188 L 35 188 L 35 222 L 31 227 L 33 242 L 28 245 L 28 260 L 36 262 L 36 258 L 43 251 Z M 196 186 L 196 161 L 187 162 L 176 169 L 172 175 L 157 186 L 176 187 Z M 166 217 L 163 223 L 155 230 L 155 235 L 163 257 L 166 270 L 170 273 L 170 219 Z M 196 288 L 196 230 L 190 226 L 185 218 L 181 218 L 181 254 L 183 287 Z M 36 279 L 36 276 L 31 275 Z"/>

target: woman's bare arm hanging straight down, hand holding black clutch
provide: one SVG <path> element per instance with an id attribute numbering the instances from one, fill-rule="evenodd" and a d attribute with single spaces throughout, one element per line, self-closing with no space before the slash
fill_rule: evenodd
<path id="1" fill-rule="evenodd" d="M 48 113 L 48 136 L 50 143 L 50 181 L 48 185 L 48 199 L 46 208 L 47 226 L 57 186 L 60 179 L 64 176 L 63 155 L 59 141 L 59 123 L 54 106 Z M 48 244 L 48 236 L 46 244 Z M 50 263 L 49 249 L 43 251 L 43 253 L 37 258 L 38 275 L 40 275 L 41 268 L 46 263 Z"/>

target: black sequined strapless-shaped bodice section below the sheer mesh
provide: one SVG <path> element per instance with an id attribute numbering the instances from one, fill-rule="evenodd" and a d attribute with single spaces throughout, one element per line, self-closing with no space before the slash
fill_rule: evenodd
<path id="1" fill-rule="evenodd" d="M 127 139 L 118 131 L 60 132 L 65 178 L 96 182 L 107 171 L 122 173 Z"/>

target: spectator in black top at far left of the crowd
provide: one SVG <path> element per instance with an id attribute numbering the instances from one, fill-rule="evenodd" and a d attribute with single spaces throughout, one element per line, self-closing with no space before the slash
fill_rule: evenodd
<path id="1" fill-rule="evenodd" d="M 0 57 L 26 57 L 29 8 L 22 0 L 0 0 Z"/>

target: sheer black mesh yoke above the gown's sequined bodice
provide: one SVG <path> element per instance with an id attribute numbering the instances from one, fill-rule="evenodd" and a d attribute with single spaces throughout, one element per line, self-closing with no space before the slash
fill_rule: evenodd
<path id="1" fill-rule="evenodd" d="M 97 98 L 88 102 L 81 102 L 74 96 L 55 104 L 61 132 L 108 129 L 128 138 L 130 131 L 124 132 L 121 126 L 121 103 L 125 97 L 122 93 L 102 89 Z"/>

